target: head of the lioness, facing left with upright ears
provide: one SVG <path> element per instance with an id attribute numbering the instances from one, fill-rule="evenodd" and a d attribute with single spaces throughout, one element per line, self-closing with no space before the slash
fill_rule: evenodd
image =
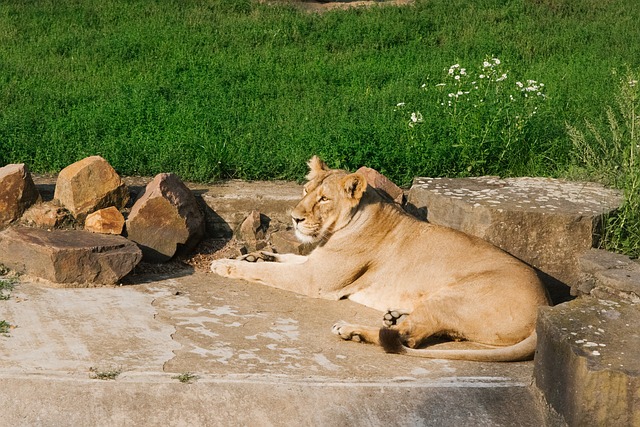
<path id="1" fill-rule="evenodd" d="M 309 160 L 303 198 L 291 212 L 298 239 L 305 243 L 328 239 L 349 223 L 367 189 L 366 178 L 329 169 L 314 156 Z"/>

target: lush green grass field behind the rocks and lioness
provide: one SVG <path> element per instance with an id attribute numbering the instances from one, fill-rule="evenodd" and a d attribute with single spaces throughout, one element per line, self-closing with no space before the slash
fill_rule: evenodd
<path id="1" fill-rule="evenodd" d="M 123 175 L 300 179 L 319 154 L 402 185 L 565 176 L 576 166 L 565 124 L 607 131 L 612 72 L 640 67 L 638 22 L 636 0 L 417 0 L 322 15 L 250 0 L 6 0 L 0 165 L 57 172 L 99 154 Z M 509 88 L 447 115 L 435 85 L 486 58 L 500 59 Z M 504 96 L 528 79 L 547 98 L 519 122 Z M 423 122 L 410 127 L 416 111 Z"/>

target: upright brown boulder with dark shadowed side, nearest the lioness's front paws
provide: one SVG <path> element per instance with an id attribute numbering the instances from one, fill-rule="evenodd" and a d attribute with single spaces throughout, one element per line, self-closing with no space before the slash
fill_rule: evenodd
<path id="1" fill-rule="evenodd" d="M 131 208 L 127 235 L 144 258 L 165 262 L 187 253 L 204 236 L 204 216 L 193 193 L 174 174 L 156 175 Z"/>

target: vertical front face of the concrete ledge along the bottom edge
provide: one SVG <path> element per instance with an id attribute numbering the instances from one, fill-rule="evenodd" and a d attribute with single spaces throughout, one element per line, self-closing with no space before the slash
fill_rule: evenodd
<path id="1" fill-rule="evenodd" d="M 169 377 L 0 378 L 6 426 L 519 426 L 545 424 L 508 382 L 331 383 Z"/>

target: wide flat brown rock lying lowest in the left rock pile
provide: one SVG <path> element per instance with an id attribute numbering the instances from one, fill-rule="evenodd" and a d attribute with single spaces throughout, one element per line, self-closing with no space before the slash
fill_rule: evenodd
<path id="1" fill-rule="evenodd" d="M 142 259 L 121 236 L 12 227 L 0 233 L 0 264 L 66 287 L 113 285 Z"/>

